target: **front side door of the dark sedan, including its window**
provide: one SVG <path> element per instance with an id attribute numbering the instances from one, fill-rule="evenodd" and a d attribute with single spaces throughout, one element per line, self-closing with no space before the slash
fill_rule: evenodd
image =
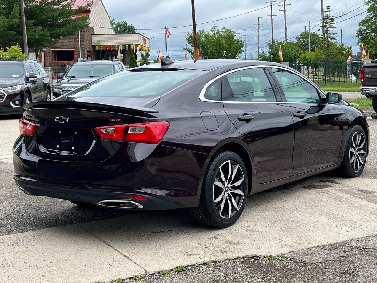
<path id="1" fill-rule="evenodd" d="M 342 119 L 333 104 L 305 76 L 271 68 L 294 121 L 292 175 L 337 163 L 342 142 Z"/>

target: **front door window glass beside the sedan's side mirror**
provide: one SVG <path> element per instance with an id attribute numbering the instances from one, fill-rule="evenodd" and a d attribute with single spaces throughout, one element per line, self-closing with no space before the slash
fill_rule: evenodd
<path id="1" fill-rule="evenodd" d="M 321 103 L 317 89 L 299 75 L 283 69 L 271 70 L 282 87 L 287 102 Z"/>

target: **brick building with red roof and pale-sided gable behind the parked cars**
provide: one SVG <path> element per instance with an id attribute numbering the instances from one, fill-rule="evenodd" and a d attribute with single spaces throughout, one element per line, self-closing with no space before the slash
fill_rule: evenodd
<path id="1" fill-rule="evenodd" d="M 72 8 L 84 6 L 87 2 L 89 0 L 77 0 Z M 43 66 L 66 68 L 77 62 L 78 58 L 112 60 L 118 54 L 116 46 L 123 47 L 122 62 L 128 66 L 131 52 L 129 46 L 135 44 L 144 48 L 150 47 L 149 38 L 141 34 L 115 34 L 102 0 L 94 0 L 92 6 L 83 11 L 83 14 L 89 15 L 90 25 L 77 31 L 77 34 L 61 37 L 54 48 L 43 48 Z M 37 52 L 29 50 L 29 58 L 37 57 Z"/>

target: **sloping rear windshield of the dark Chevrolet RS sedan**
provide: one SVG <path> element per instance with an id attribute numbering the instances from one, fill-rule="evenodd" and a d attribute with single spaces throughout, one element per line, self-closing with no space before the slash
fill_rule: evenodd
<path id="1" fill-rule="evenodd" d="M 204 73 L 199 70 L 119 72 L 88 83 L 67 97 L 161 95 Z"/>

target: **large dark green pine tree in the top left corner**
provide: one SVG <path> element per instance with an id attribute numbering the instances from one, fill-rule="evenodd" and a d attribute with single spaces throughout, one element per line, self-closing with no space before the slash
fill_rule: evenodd
<path id="1" fill-rule="evenodd" d="M 28 47 L 53 47 L 60 37 L 77 33 L 89 25 L 89 16 L 81 15 L 92 5 L 72 9 L 74 0 L 24 0 Z M 80 17 L 74 17 L 80 15 Z M 20 1 L 0 0 L 0 47 L 23 46 Z"/>

